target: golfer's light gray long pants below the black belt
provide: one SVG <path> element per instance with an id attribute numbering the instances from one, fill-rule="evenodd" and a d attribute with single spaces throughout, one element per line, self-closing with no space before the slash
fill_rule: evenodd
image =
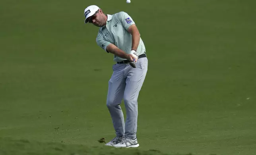
<path id="1" fill-rule="evenodd" d="M 130 64 L 114 64 L 113 74 L 109 80 L 107 107 L 112 117 L 114 130 L 117 136 L 136 138 L 138 119 L 138 95 L 147 73 L 147 58 L 140 58 L 136 68 Z M 121 109 L 124 99 L 126 109 L 126 122 Z"/>

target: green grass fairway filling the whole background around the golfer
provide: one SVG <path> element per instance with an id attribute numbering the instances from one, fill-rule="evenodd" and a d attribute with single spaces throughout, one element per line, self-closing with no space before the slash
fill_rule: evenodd
<path id="1" fill-rule="evenodd" d="M 89 5 L 128 13 L 145 44 L 136 149 L 97 141 L 115 136 L 106 106 L 114 61 L 96 44 L 98 28 L 83 23 Z M 256 154 L 255 6 L 255 0 L 4 0 L 0 155 Z"/>

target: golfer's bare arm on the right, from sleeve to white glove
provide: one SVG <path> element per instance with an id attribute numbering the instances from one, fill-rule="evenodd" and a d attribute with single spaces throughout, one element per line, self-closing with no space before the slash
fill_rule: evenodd
<path id="1" fill-rule="evenodd" d="M 132 34 L 132 49 L 137 51 L 140 43 L 140 32 L 135 24 L 131 25 L 127 31 Z"/>

